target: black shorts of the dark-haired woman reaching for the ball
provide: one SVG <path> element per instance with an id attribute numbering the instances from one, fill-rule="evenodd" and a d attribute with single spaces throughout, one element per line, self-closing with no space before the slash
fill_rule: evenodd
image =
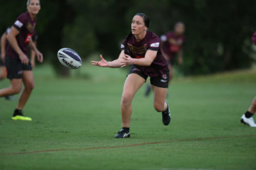
<path id="1" fill-rule="evenodd" d="M 135 65 L 131 66 L 129 74 L 132 74 L 132 73 L 138 74 L 139 76 L 144 78 L 146 82 L 148 76 L 144 74 L 137 66 Z M 166 73 L 161 76 L 150 77 L 150 84 L 156 87 L 168 88 L 169 79 L 170 79 L 170 75 L 169 75 L 169 70 L 167 69 Z"/>

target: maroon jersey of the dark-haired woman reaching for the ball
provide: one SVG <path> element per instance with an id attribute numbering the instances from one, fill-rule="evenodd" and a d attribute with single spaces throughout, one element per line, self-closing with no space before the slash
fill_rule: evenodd
<path id="1" fill-rule="evenodd" d="M 125 40 L 121 44 L 121 49 L 125 49 Z M 160 50 L 160 39 L 155 33 L 147 31 L 146 36 L 141 41 L 136 41 L 135 36 L 131 36 L 127 41 L 127 46 L 130 49 L 131 57 L 144 58 L 147 50 L 154 50 L 158 53 L 150 66 L 137 66 L 144 74 L 150 77 L 166 74 L 168 63 L 163 57 Z"/>

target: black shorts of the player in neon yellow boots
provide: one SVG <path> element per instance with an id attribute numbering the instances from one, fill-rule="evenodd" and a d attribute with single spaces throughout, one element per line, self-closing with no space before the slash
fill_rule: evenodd
<path id="1" fill-rule="evenodd" d="M 8 79 L 21 79 L 23 71 L 32 70 L 32 65 L 24 65 L 20 59 L 5 56 L 5 66 Z"/>

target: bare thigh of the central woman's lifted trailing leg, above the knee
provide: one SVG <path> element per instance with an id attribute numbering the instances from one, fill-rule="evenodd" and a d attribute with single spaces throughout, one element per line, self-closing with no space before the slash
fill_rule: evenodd
<path id="1" fill-rule="evenodd" d="M 154 105 L 164 105 L 168 88 L 157 87 L 152 85 L 152 89 L 154 92 Z"/>

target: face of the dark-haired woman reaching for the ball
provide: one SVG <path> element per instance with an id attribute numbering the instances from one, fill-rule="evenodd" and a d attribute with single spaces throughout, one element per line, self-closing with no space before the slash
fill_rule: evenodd
<path id="1" fill-rule="evenodd" d="M 139 35 L 143 31 L 146 31 L 147 27 L 144 23 L 144 20 L 141 16 L 135 15 L 131 21 L 131 33 L 133 35 Z"/>

